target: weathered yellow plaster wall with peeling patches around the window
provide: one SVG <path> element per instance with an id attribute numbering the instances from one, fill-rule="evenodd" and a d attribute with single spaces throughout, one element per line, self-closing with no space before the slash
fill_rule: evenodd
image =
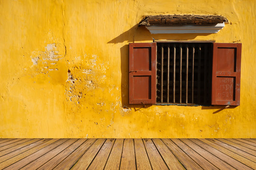
<path id="1" fill-rule="evenodd" d="M 144 15 L 221 15 L 218 34 L 150 34 Z M 256 137 L 255 0 L 0 0 L 0 137 Z M 241 42 L 241 103 L 128 105 L 128 43 Z M 68 71 L 69 70 L 69 71 Z"/>

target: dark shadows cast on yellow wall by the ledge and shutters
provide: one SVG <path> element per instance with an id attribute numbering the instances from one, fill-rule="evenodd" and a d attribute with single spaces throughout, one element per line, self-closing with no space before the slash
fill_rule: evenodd
<path id="1" fill-rule="evenodd" d="M 110 40 L 108 43 L 122 43 L 122 42 L 139 42 L 139 41 L 151 41 L 155 40 L 193 40 L 197 36 L 206 36 L 209 34 L 150 34 L 145 26 L 135 25 L 128 31 L 120 34 L 116 38 Z M 134 108 L 135 111 L 142 108 L 148 108 L 152 105 L 146 104 L 145 107 L 142 104 L 129 104 L 129 45 L 126 44 L 120 48 L 121 57 L 121 95 L 122 95 L 122 107 L 124 109 Z M 214 106 L 215 107 L 215 106 Z M 202 109 L 214 109 L 212 106 L 203 106 Z M 222 108 L 222 107 L 221 107 Z M 224 106 L 223 106 L 224 109 Z M 221 111 L 221 110 L 219 110 Z M 216 111 L 215 111 L 216 112 Z M 214 112 L 214 113 L 215 113 Z M 217 113 L 217 112 L 216 112 Z"/>

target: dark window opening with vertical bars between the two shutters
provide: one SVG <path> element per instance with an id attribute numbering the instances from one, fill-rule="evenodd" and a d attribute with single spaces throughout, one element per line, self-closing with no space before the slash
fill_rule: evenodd
<path id="1" fill-rule="evenodd" d="M 156 102 L 210 104 L 212 43 L 157 43 Z"/>

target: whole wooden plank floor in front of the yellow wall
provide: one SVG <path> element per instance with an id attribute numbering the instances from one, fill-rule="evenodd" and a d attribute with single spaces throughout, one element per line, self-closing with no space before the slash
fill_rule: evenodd
<path id="1" fill-rule="evenodd" d="M 256 139 L 0 139 L 0 170 L 255 170 Z"/>

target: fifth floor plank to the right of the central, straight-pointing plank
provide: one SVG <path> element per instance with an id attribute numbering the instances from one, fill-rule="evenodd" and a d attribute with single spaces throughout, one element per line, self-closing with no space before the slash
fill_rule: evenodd
<path id="1" fill-rule="evenodd" d="M 189 157 L 191 157 L 195 162 L 197 162 L 204 170 L 218 170 L 213 164 L 204 159 L 200 154 L 196 151 L 192 150 L 189 146 L 184 144 L 179 139 L 171 139 L 174 144 L 176 144 L 179 148 L 181 148 Z"/>

